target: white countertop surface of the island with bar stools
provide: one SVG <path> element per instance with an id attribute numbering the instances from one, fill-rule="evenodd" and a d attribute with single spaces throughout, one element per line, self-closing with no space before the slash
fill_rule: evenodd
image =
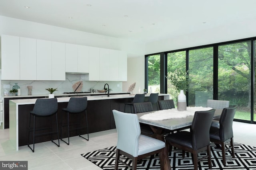
<path id="1" fill-rule="evenodd" d="M 150 94 L 145 94 L 145 97 L 150 96 Z M 169 99 L 169 94 L 159 94 L 159 96 L 166 96 L 166 99 Z M 75 97 L 75 96 L 74 96 Z M 82 97 L 82 96 L 78 96 Z M 109 100 L 109 99 L 122 99 L 122 98 L 134 98 L 134 95 L 130 94 L 110 94 L 110 96 L 106 95 L 100 95 L 100 96 L 86 96 L 87 100 Z M 62 98 L 57 98 L 58 102 L 68 102 L 70 97 L 62 97 Z M 24 105 L 24 104 L 35 104 L 36 103 L 36 98 L 34 99 L 15 99 L 15 100 L 10 100 L 17 105 Z"/>

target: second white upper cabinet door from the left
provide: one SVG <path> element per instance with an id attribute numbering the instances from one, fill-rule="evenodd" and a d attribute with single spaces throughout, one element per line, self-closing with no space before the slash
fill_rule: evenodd
<path id="1" fill-rule="evenodd" d="M 36 80 L 36 39 L 20 37 L 20 80 Z"/>

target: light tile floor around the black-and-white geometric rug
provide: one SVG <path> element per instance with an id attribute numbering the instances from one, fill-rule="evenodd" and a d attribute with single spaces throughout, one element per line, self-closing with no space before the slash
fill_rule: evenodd
<path id="1" fill-rule="evenodd" d="M 256 125 L 233 123 L 234 142 L 256 147 Z M 35 144 L 33 153 L 27 146 L 16 151 L 9 141 L 9 129 L 0 130 L 0 160 L 27 160 L 29 170 L 101 170 L 81 154 L 116 145 L 116 129 L 89 134 L 89 141 L 71 137 L 70 145 L 60 141 Z"/>

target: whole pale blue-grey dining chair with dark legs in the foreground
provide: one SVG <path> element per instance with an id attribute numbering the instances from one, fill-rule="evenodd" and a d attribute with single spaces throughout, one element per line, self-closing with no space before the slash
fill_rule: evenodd
<path id="1" fill-rule="evenodd" d="M 165 143 L 163 141 L 140 134 L 140 124 L 136 114 L 113 110 L 113 115 L 118 134 L 115 170 L 118 170 L 119 163 L 136 170 L 138 160 L 164 152 Z M 132 166 L 123 162 L 120 155 L 131 159 Z M 160 161 L 160 166 L 163 169 L 162 161 Z"/>

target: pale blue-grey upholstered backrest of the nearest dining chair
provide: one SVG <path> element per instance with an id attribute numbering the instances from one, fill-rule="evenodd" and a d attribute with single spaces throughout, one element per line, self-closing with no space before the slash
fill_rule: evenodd
<path id="1" fill-rule="evenodd" d="M 113 115 L 118 134 L 116 148 L 137 157 L 140 138 L 138 116 L 117 110 L 113 110 Z"/>

